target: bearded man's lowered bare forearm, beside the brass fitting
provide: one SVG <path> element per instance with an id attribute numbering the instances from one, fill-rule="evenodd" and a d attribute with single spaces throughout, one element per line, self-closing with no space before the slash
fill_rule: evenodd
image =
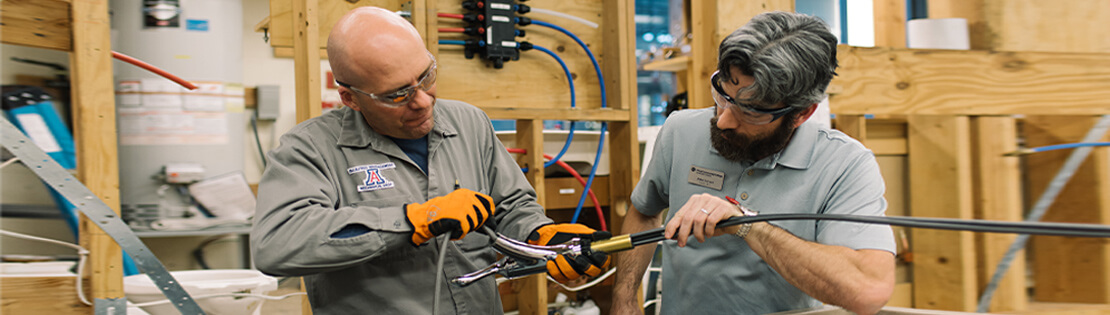
<path id="1" fill-rule="evenodd" d="M 658 227 L 659 222 L 656 216 L 646 216 L 635 209 L 629 209 L 625 215 L 620 234 L 632 234 L 654 227 Z M 644 271 L 652 262 L 655 254 L 655 244 L 640 245 L 635 248 L 616 254 L 616 280 L 613 285 L 614 307 L 634 307 L 638 309 L 637 293 Z"/>

